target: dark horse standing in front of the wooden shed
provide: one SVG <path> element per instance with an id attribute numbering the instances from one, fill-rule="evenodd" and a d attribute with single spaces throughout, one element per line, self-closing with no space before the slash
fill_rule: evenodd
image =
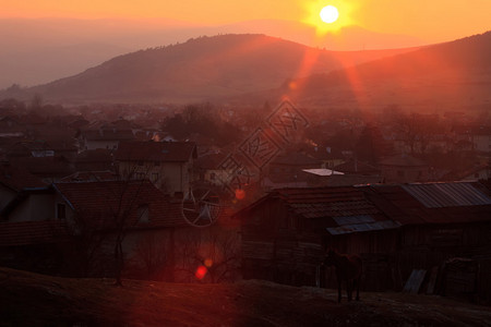
<path id="1" fill-rule="evenodd" d="M 352 299 L 352 289 L 357 288 L 357 298 L 360 300 L 360 280 L 362 262 L 358 255 L 347 255 L 335 252 L 334 250 L 327 251 L 327 255 L 324 257 L 322 265 L 334 266 L 336 268 L 337 278 L 337 302 L 342 300 L 342 282 L 346 281 L 346 292 L 348 301 Z"/>

